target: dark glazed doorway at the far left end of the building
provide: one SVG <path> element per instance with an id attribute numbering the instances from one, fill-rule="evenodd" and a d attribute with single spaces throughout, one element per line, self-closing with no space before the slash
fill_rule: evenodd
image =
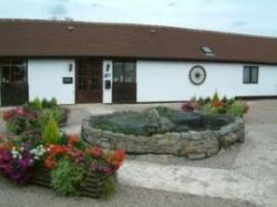
<path id="1" fill-rule="evenodd" d="M 28 102 L 27 61 L 0 61 L 1 105 L 21 105 Z"/>

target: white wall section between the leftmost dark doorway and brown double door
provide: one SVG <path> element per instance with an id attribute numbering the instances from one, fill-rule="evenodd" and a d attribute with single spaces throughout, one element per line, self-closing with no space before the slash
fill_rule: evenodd
<path id="1" fill-rule="evenodd" d="M 69 65 L 72 64 L 72 71 Z M 63 84 L 62 77 L 73 77 L 73 84 Z M 75 103 L 74 60 L 29 60 L 29 100 L 55 97 L 59 104 Z"/>

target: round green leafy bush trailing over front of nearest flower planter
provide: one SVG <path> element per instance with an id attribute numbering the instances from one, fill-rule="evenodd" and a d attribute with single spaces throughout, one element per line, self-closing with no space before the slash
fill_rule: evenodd
<path id="1" fill-rule="evenodd" d="M 83 176 L 84 172 L 81 167 L 70 159 L 63 158 L 51 172 L 51 184 L 59 195 L 76 195 Z"/>

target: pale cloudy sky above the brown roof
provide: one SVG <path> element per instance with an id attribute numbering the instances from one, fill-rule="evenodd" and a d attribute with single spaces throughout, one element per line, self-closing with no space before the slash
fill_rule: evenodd
<path id="1" fill-rule="evenodd" d="M 277 0 L 0 0 L 0 18 L 71 18 L 277 37 Z"/>

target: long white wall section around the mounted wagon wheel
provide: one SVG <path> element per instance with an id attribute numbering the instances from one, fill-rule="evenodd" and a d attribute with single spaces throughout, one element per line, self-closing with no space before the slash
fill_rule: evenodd
<path id="1" fill-rule="evenodd" d="M 206 70 L 202 85 L 191 83 L 188 73 L 195 65 Z M 247 64 L 246 64 L 247 65 Z M 244 64 L 137 61 L 137 102 L 184 101 L 192 96 L 277 95 L 277 66 L 259 65 L 258 84 L 243 83 Z"/>

